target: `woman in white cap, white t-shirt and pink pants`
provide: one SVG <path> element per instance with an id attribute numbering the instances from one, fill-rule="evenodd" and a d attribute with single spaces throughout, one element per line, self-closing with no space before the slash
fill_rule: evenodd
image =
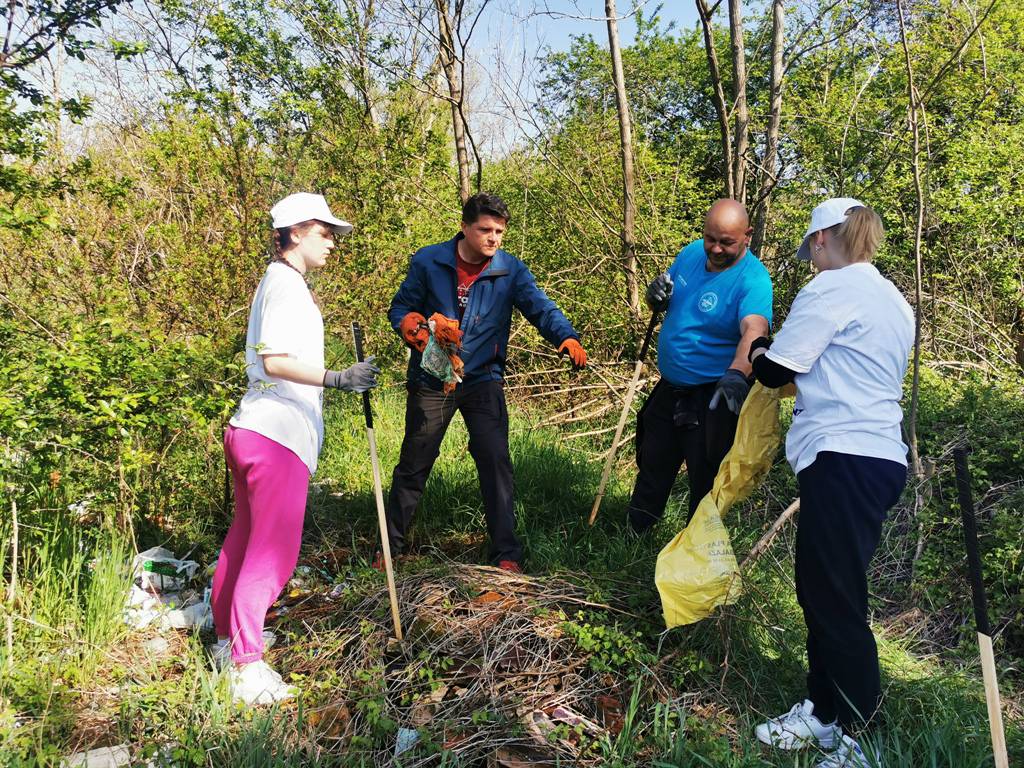
<path id="1" fill-rule="evenodd" d="M 336 234 L 352 225 L 319 195 L 289 195 L 270 209 L 275 253 L 249 313 L 249 389 L 224 433 L 234 480 L 234 518 L 213 580 L 214 660 L 230 667 L 231 692 L 247 705 L 294 695 L 263 662 L 263 621 L 299 555 L 309 477 L 324 442 L 324 388 L 377 386 L 373 358 L 345 371 L 324 367 L 324 319 L 306 285 Z"/>

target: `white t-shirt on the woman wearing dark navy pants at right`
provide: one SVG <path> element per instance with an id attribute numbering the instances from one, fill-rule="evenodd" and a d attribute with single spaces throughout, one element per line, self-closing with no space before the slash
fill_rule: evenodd
<path id="1" fill-rule="evenodd" d="M 825 270 L 797 294 L 766 352 L 797 372 L 785 438 L 794 472 L 821 451 L 906 465 L 899 402 L 912 346 L 913 310 L 871 264 Z"/>

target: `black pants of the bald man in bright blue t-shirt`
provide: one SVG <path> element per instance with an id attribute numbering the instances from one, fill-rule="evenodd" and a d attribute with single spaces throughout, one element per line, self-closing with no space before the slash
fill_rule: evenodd
<path id="1" fill-rule="evenodd" d="M 689 517 L 715 484 L 722 459 L 736 436 L 738 417 L 725 402 L 711 411 L 715 384 L 675 387 L 664 379 L 637 417 L 637 464 L 630 499 L 630 523 L 646 530 L 665 514 L 665 505 L 683 462 L 690 483 Z"/>

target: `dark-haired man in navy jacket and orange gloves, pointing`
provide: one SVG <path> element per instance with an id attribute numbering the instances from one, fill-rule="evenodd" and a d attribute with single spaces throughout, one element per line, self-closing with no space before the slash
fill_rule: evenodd
<path id="1" fill-rule="evenodd" d="M 388 496 L 391 547 L 401 552 L 416 505 L 437 459 L 444 432 L 462 414 L 469 453 L 476 462 L 490 537 L 492 562 L 520 571 L 522 545 L 515 535 L 512 461 L 503 374 L 512 309 L 515 307 L 577 369 L 587 365 L 580 336 L 555 303 L 537 286 L 526 265 L 501 250 L 509 220 L 496 195 L 475 195 L 462 209 L 462 231 L 445 243 L 421 248 L 391 300 L 391 327 L 412 348 L 406 436 Z M 462 329 L 462 382 L 451 394 L 420 366 L 427 344 L 425 318 L 439 312 Z"/>

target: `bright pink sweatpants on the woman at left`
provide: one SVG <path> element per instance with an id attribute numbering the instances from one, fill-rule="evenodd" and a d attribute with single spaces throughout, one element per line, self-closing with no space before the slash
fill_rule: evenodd
<path id="1" fill-rule="evenodd" d="M 263 620 L 299 559 L 309 469 L 268 437 L 228 425 L 234 519 L 213 574 L 213 622 L 238 664 L 263 657 Z"/>

